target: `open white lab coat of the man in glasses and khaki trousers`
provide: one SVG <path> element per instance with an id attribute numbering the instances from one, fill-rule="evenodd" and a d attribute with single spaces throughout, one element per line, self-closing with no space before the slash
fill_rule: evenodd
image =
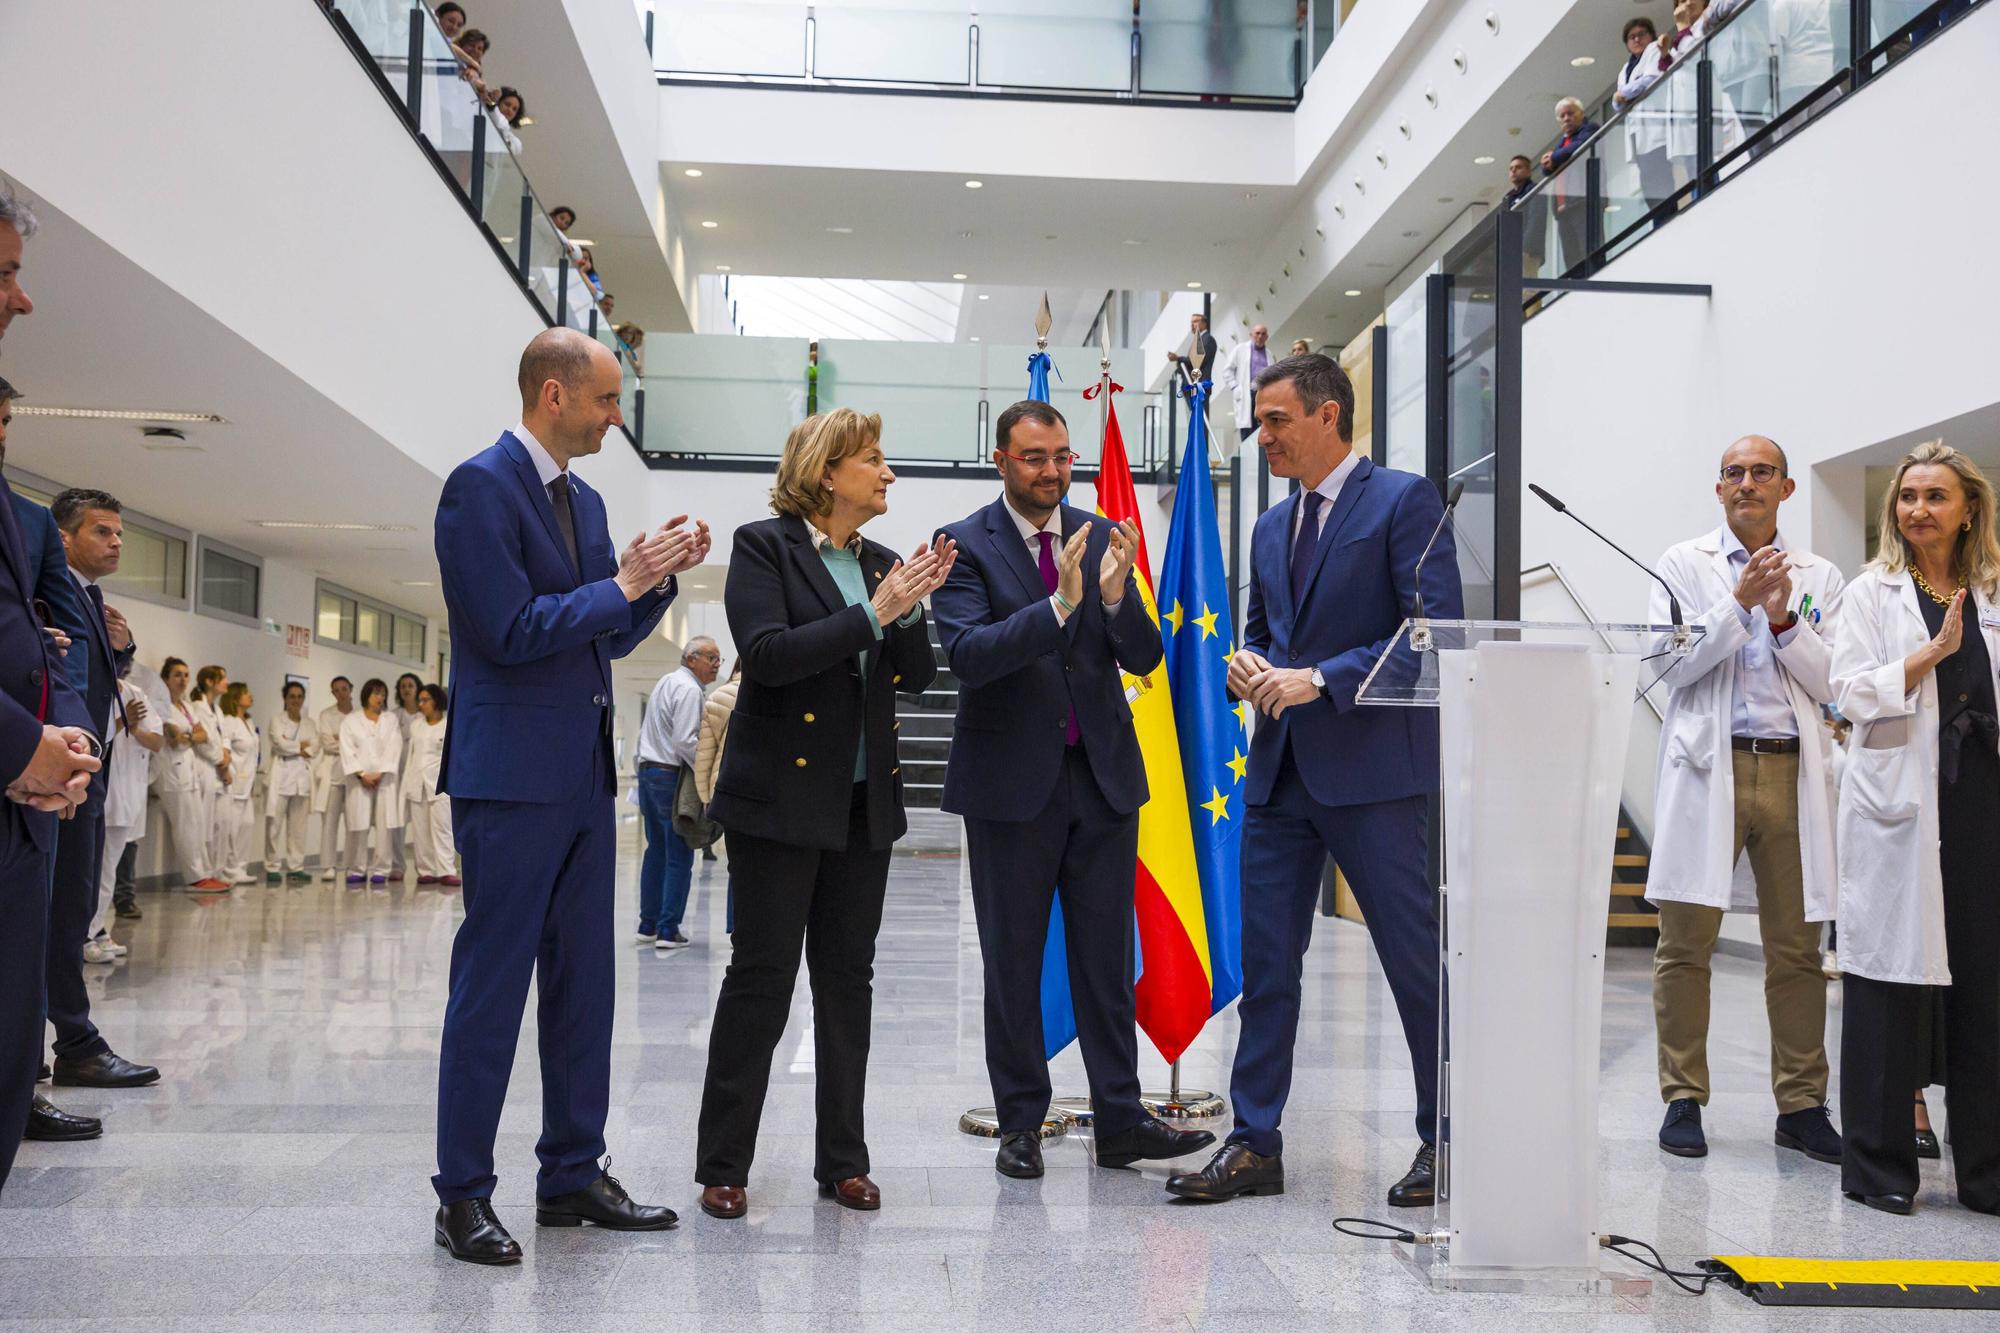
<path id="1" fill-rule="evenodd" d="M 1784 536 L 1780 534 L 1780 544 Z M 1834 799 L 1832 761 L 1820 705 L 1834 697 L 1830 634 L 1844 580 L 1840 570 L 1806 550 L 1786 550 L 1792 564 L 1792 606 L 1810 594 L 1820 624 L 1798 626 L 1792 642 L 1778 646 L 1792 723 L 1798 729 L 1798 841 L 1806 889 L 1806 921 L 1834 917 Z M 1646 897 L 1656 903 L 1700 903 L 1724 911 L 1754 911 L 1736 903 L 1730 885 L 1736 869 L 1736 765 L 1730 751 L 1730 701 L 1736 691 L 1736 652 L 1752 634 L 1770 634 L 1758 606 L 1750 628 L 1736 606 L 1736 572 L 1724 554 L 1724 528 L 1680 542 L 1660 556 L 1660 578 L 1672 584 L 1690 624 L 1708 632 L 1674 662 L 1664 685 L 1666 719 L 1660 725 L 1660 777 L 1654 795 L 1652 861 Z M 1652 592 L 1652 620 L 1668 620 L 1666 592 Z M 1840 933 L 1846 935 L 1842 921 Z"/>

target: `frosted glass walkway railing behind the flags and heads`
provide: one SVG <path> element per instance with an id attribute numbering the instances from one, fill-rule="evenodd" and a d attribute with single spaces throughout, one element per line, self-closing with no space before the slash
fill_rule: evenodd
<path id="1" fill-rule="evenodd" d="M 1026 396 L 1032 346 L 974 342 L 882 342 L 822 338 L 818 376 L 808 378 L 806 338 L 648 334 L 644 342 L 644 452 L 658 464 L 776 458 L 808 410 L 848 406 L 880 412 L 882 446 L 900 464 L 982 466 L 992 458 L 992 420 Z M 1100 406 L 1084 390 L 1098 382 L 1098 350 L 1048 348 L 1050 400 L 1070 422 L 1082 462 L 1096 466 Z M 1142 394 L 1142 352 L 1112 352 L 1118 424 L 1134 470 L 1162 458 L 1158 394 Z M 628 414 L 630 416 L 630 414 Z"/>

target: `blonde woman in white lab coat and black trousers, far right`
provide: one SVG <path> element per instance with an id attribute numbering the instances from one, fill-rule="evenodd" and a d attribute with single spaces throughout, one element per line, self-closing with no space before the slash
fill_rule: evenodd
<path id="1" fill-rule="evenodd" d="M 1876 558 L 1834 634 L 1854 723 L 1840 787 L 1840 1185 L 1914 1207 L 1918 1021 L 1944 997 L 1958 1201 L 2000 1213 L 2000 542 L 1994 488 L 1918 444 L 1882 500 Z"/>

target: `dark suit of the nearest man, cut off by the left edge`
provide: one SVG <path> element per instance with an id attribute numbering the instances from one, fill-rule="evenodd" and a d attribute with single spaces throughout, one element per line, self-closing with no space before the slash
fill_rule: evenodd
<path id="1" fill-rule="evenodd" d="M 24 510 L 48 514 L 0 480 L 0 785 L 28 771 L 46 723 L 84 723 L 84 705 L 34 608 L 36 564 L 22 540 Z M 40 554 L 40 546 L 36 550 Z M 0 1187 L 14 1167 L 42 1067 L 56 823 L 54 815 L 0 799 Z"/>

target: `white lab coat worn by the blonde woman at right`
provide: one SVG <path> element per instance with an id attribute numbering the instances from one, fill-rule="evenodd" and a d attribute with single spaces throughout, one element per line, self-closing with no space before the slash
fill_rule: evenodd
<path id="1" fill-rule="evenodd" d="M 1902 689 L 1902 658 L 1930 642 L 1916 596 L 1908 572 L 1868 568 L 1848 588 L 1834 632 L 1834 691 L 1854 723 L 1840 787 L 1840 971 L 1948 987 L 1938 675 L 1914 693 Z M 1986 656 L 2000 669 L 1994 606 L 1992 590 L 1966 596 L 1966 632 L 1986 636 Z"/>

